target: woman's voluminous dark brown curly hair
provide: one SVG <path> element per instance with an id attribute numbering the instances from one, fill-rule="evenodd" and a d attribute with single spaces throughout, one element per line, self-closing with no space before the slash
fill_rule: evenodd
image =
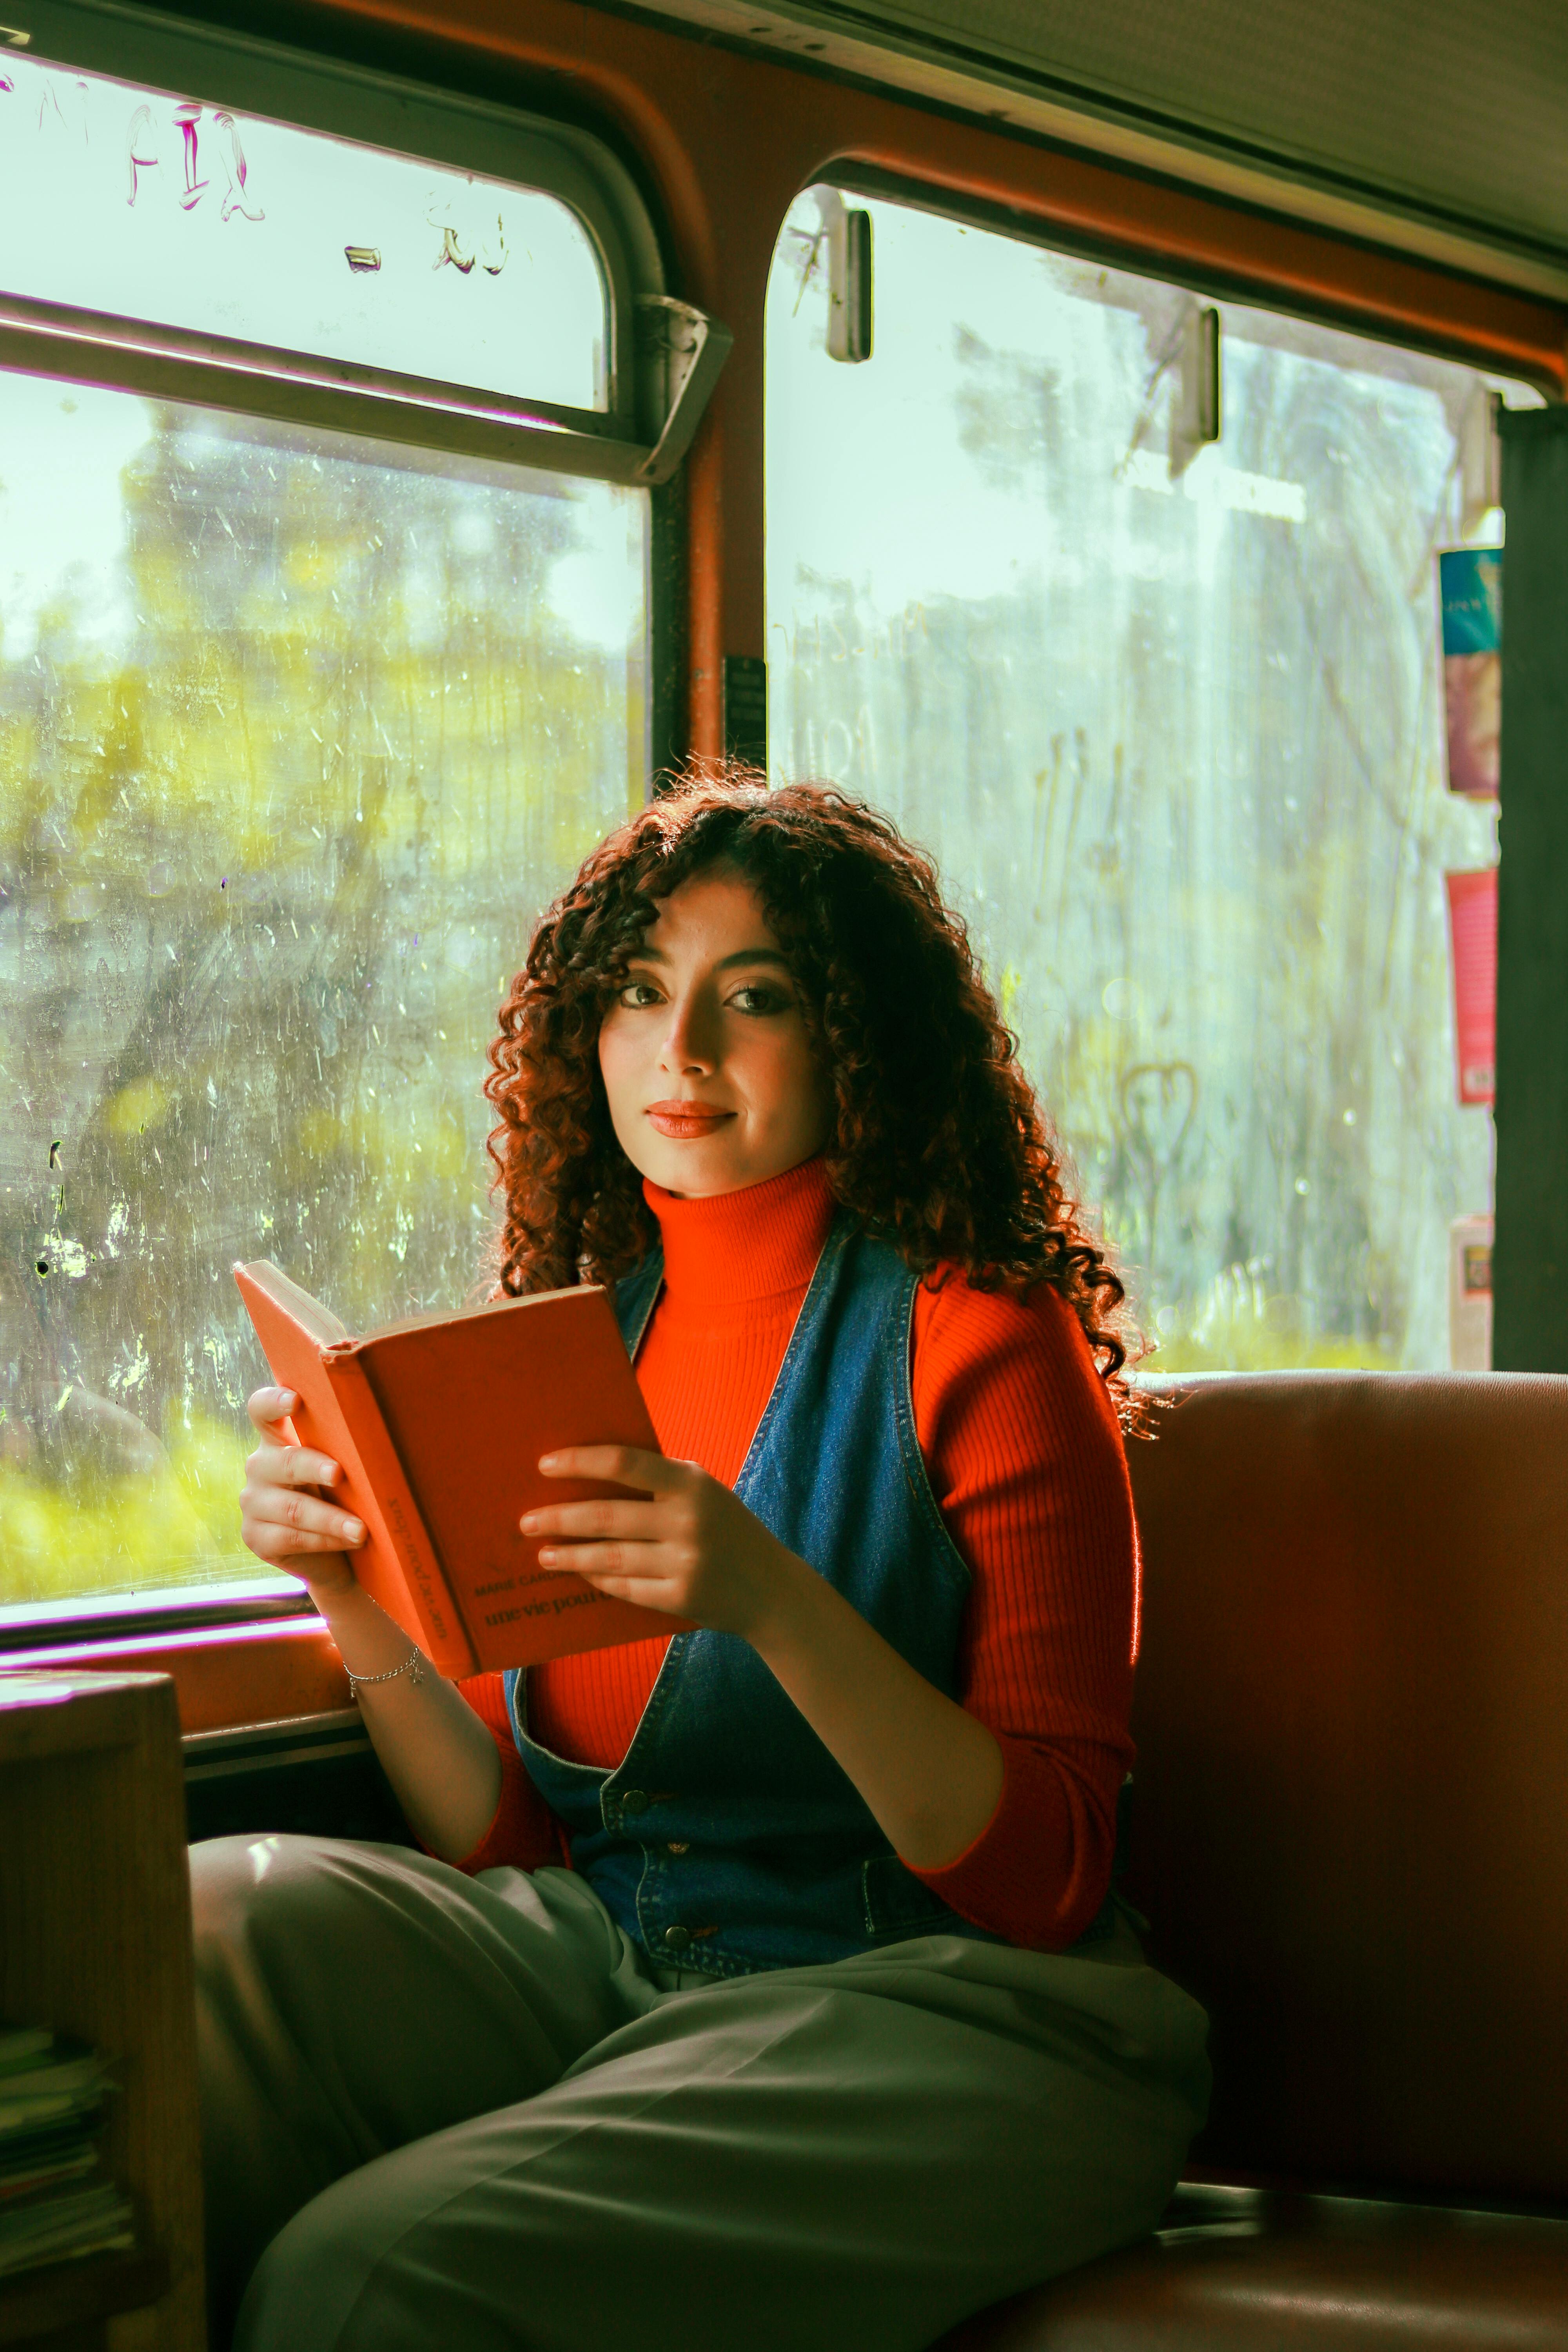
<path id="1" fill-rule="evenodd" d="M 1065 1190 L 969 931 L 933 861 L 820 783 L 769 790 L 733 767 L 686 779 L 541 915 L 484 1080 L 501 1294 L 616 1282 L 658 1240 L 611 1127 L 599 1021 L 661 898 L 712 866 L 757 891 L 832 1073 L 823 1160 L 842 1207 L 922 1275 L 957 1265 L 978 1289 L 1060 1291 L 1126 1416 L 1124 1287 Z"/>

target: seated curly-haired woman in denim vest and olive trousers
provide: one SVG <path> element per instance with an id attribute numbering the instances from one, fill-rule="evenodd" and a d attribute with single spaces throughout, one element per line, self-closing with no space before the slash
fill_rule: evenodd
<path id="1" fill-rule="evenodd" d="M 501 1289 L 616 1284 L 663 1451 L 541 1559 L 698 1630 L 440 1682 L 261 1390 L 425 1853 L 197 1846 L 216 2343 L 924 2352 L 1143 2234 L 1204 2016 L 1110 1893 L 1138 1623 L 1121 1287 L 936 873 L 698 783 L 541 920 Z M 592 1430 L 583 1432 L 585 1439 Z"/>

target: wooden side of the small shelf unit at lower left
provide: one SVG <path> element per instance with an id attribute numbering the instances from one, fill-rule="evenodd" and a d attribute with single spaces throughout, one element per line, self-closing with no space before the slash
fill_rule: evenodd
<path id="1" fill-rule="evenodd" d="M 155 2343 L 202 2352 L 181 1769 L 165 1675 L 0 1675 L 0 2016 L 80 2034 L 110 2060 L 103 2159 L 169 2277 Z M 0 2284 L 0 2340 L 12 2296 L 38 2310 L 49 2279 Z M 56 2321 L 82 2324 L 80 2274 L 61 2265 L 54 2284 Z"/>

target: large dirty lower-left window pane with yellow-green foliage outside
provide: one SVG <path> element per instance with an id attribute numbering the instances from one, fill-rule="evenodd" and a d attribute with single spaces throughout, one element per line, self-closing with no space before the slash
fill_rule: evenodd
<path id="1" fill-rule="evenodd" d="M 484 1279 L 496 1002 L 644 790 L 646 499 L 16 374 L 0 449 L 0 1602 L 252 1576 L 230 1263 Z"/>

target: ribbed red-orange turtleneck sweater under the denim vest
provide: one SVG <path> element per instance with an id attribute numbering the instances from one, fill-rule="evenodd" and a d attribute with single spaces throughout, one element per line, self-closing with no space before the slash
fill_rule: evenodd
<path id="1" fill-rule="evenodd" d="M 663 1451 L 733 1484 L 832 1223 L 820 1160 L 717 1200 L 646 1185 L 665 1287 L 637 1355 Z M 1117 1790 L 1131 1764 L 1138 1536 L 1121 1432 L 1077 1317 L 976 1291 L 959 1272 L 914 1301 L 914 1428 L 947 1531 L 973 1576 L 959 1698 L 1001 1745 L 1006 1778 L 976 1842 L 917 1872 L 976 1926 L 1060 1950 L 1110 1884 Z M 663 1639 L 529 1670 L 529 1731 L 616 1766 Z M 498 1675 L 463 1684 L 496 1736 L 503 1790 L 463 1870 L 562 1860 L 505 1719 Z"/>

